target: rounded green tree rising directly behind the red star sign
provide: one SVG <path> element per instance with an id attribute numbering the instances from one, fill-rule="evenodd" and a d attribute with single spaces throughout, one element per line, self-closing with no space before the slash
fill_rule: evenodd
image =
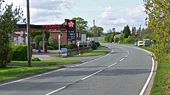
<path id="1" fill-rule="evenodd" d="M 85 21 L 81 17 L 74 17 L 73 20 L 76 20 L 76 28 L 81 32 L 85 33 L 87 32 L 87 21 Z"/>

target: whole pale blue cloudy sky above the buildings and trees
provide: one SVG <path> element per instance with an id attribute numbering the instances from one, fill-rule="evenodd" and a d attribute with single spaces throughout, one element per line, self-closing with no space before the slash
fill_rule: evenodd
<path id="1" fill-rule="evenodd" d="M 26 0 L 5 0 L 21 6 L 26 14 Z M 64 19 L 82 17 L 88 25 L 102 26 L 105 32 L 125 25 L 145 27 L 143 0 L 30 0 L 32 24 L 60 24 Z"/>

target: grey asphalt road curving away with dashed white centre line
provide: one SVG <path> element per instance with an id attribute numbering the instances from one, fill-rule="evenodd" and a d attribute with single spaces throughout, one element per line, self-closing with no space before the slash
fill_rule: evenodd
<path id="1" fill-rule="evenodd" d="M 0 84 L 0 95 L 139 95 L 152 57 L 130 46 L 104 44 L 110 54 L 48 74 Z"/>

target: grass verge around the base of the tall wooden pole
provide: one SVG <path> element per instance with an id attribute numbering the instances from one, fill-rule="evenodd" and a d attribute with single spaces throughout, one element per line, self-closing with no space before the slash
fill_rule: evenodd
<path id="1" fill-rule="evenodd" d="M 32 67 L 27 67 L 26 61 L 13 61 L 8 68 L 0 68 L 0 82 L 16 80 L 47 71 L 63 68 L 67 64 L 80 63 L 78 60 L 33 61 Z"/>

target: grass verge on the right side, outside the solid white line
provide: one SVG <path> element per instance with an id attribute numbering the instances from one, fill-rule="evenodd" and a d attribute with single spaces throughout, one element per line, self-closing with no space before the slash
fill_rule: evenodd
<path id="1" fill-rule="evenodd" d="M 153 52 L 150 47 L 142 47 Z M 170 95 L 170 54 L 162 57 L 158 62 L 158 69 L 151 95 Z"/>

